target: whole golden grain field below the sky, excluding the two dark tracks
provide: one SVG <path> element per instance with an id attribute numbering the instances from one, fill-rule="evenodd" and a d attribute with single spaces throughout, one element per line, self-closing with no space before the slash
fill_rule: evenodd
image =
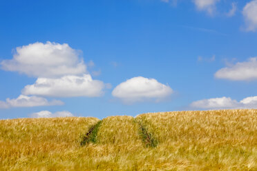
<path id="1" fill-rule="evenodd" d="M 135 119 L 137 121 L 135 121 Z M 0 121 L 0 170 L 257 170 L 257 110 Z M 158 140 L 146 148 L 142 123 Z"/>

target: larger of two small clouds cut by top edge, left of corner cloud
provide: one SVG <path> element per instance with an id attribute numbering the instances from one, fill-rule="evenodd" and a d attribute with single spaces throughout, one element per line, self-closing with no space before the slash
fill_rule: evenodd
<path id="1" fill-rule="evenodd" d="M 207 11 L 213 14 L 216 10 L 216 3 L 220 0 L 193 0 L 198 10 Z"/>

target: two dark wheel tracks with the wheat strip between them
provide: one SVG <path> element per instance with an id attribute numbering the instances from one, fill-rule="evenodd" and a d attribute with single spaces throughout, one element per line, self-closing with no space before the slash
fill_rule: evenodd
<path id="1" fill-rule="evenodd" d="M 129 116 L 107 117 L 93 125 L 84 135 L 81 145 L 88 143 L 142 145 L 155 148 L 158 141 L 146 126 Z"/>

